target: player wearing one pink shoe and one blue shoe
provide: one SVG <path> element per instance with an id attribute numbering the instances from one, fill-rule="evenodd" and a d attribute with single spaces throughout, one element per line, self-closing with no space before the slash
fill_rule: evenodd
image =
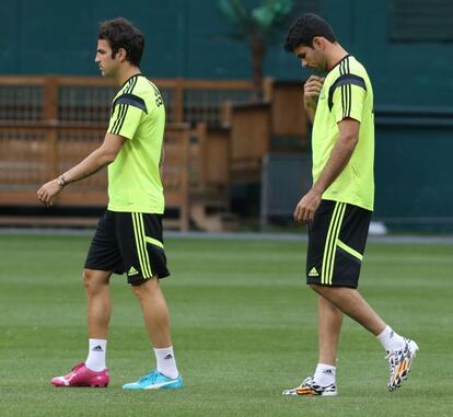
<path id="1" fill-rule="evenodd" d="M 108 165 L 108 207 L 97 224 L 83 269 L 89 354 L 85 362 L 71 372 L 54 378 L 51 383 L 56 386 L 108 385 L 108 282 L 114 273 L 127 275 L 140 302 L 156 359 L 155 370 L 123 387 L 183 386 L 172 347 L 169 311 L 159 283 L 170 275 L 162 239 L 164 197 L 160 175 L 165 109 L 158 88 L 140 72 L 143 47 L 143 35 L 123 18 L 100 26 L 95 62 L 104 77 L 121 86 L 112 102 L 104 142 L 37 192 L 37 198 L 49 206 L 66 186 Z"/>

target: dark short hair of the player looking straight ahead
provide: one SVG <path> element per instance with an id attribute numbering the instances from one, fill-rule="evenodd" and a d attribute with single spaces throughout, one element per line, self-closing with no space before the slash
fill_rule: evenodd
<path id="1" fill-rule="evenodd" d="M 119 48 L 126 49 L 126 59 L 138 67 L 143 55 L 144 37 L 141 32 L 124 18 L 101 23 L 97 39 L 107 40 L 115 57 Z"/>

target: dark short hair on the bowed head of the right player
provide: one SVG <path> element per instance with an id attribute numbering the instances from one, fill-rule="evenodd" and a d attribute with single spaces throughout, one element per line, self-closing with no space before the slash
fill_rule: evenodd
<path id="1" fill-rule="evenodd" d="M 288 31 L 284 49 L 293 53 L 301 45 L 313 47 L 315 36 L 323 36 L 332 43 L 337 42 L 332 26 L 323 18 L 314 13 L 302 14 Z"/>

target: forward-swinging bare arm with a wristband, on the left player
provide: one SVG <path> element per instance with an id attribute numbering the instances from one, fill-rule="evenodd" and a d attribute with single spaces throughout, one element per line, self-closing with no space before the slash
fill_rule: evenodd
<path id="1" fill-rule="evenodd" d="M 46 206 L 51 206 L 55 197 L 61 193 L 67 184 L 86 178 L 114 162 L 126 140 L 121 136 L 107 132 L 100 148 L 58 178 L 44 184 L 37 192 L 38 200 Z"/>

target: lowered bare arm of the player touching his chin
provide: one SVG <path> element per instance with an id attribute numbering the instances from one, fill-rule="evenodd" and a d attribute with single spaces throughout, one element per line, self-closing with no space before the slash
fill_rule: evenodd
<path id="1" fill-rule="evenodd" d="M 345 118 L 338 123 L 339 138 L 332 150 L 324 170 L 299 201 L 294 210 L 294 220 L 300 223 L 313 221 L 314 213 L 320 207 L 323 193 L 342 172 L 352 157 L 353 150 L 359 141 L 360 123 L 353 118 Z"/>

